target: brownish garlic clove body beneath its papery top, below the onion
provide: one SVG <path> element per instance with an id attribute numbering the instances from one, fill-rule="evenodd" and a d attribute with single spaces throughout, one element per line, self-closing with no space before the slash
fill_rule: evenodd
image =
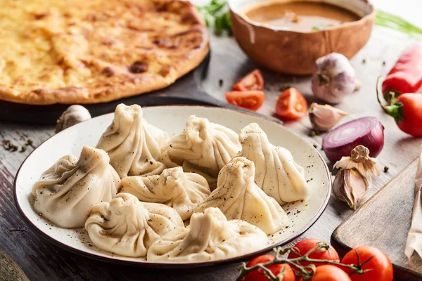
<path id="1" fill-rule="evenodd" d="M 357 209 L 359 200 L 368 192 L 369 182 L 356 169 L 342 169 L 334 178 L 333 197 Z"/>

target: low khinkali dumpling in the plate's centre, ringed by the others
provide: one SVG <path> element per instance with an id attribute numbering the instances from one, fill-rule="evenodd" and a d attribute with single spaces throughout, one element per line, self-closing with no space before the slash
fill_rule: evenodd
<path id="1" fill-rule="evenodd" d="M 191 217 L 198 204 L 210 195 L 210 187 L 203 176 L 184 173 L 179 166 L 165 169 L 160 176 L 123 178 L 120 192 L 135 195 L 143 202 L 166 204 L 186 220 Z"/>

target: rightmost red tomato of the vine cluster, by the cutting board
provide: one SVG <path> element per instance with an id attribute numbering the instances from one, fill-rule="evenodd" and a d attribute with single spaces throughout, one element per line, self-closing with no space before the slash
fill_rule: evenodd
<path id="1" fill-rule="evenodd" d="M 370 259 L 362 266 L 363 270 L 368 271 L 359 275 L 357 273 L 352 273 L 352 270 L 349 268 L 343 268 L 346 273 L 349 273 L 352 281 L 392 281 L 392 264 L 383 251 L 375 247 L 358 247 L 349 251 L 343 257 L 341 263 L 357 265 L 357 255 L 359 255 L 359 262 L 361 264 Z"/>

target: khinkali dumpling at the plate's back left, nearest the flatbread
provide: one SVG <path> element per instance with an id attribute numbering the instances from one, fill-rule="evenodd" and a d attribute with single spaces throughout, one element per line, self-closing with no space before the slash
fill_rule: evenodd
<path id="1" fill-rule="evenodd" d="M 113 123 L 98 141 L 97 148 L 110 156 L 110 164 L 121 178 L 160 174 L 165 165 L 158 160 L 167 143 L 167 133 L 143 119 L 139 105 L 117 105 Z"/>

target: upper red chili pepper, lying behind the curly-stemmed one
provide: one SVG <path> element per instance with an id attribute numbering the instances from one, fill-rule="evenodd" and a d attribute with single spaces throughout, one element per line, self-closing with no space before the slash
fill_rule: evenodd
<path id="1" fill-rule="evenodd" d="M 422 42 L 411 44 L 388 72 L 383 81 L 383 94 L 390 103 L 402 93 L 416 93 L 422 86 Z M 392 103 L 390 103 L 392 104 Z"/>

